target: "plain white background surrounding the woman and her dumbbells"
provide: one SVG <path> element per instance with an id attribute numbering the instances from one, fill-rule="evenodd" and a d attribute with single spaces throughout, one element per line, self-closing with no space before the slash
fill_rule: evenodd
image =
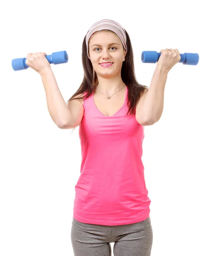
<path id="1" fill-rule="evenodd" d="M 74 186 L 80 175 L 79 127 L 59 129 L 48 113 L 40 75 L 14 71 L 13 58 L 66 50 L 51 64 L 65 102 L 83 79 L 82 42 L 104 18 L 128 32 L 135 75 L 150 86 L 156 64 L 141 52 L 195 52 L 197 66 L 169 71 L 164 111 L 145 126 L 143 163 L 153 229 L 151 256 L 206 255 L 204 1 L 50 1 L 1 3 L 0 255 L 73 255 Z M 113 249 L 112 243 L 112 249 Z"/>

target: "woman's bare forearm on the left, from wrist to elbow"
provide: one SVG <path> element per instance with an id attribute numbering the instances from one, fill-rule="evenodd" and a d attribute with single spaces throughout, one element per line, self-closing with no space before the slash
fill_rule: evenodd
<path id="1" fill-rule="evenodd" d="M 70 111 L 56 83 L 56 79 L 51 68 L 47 68 L 40 73 L 42 83 L 46 93 L 46 101 L 49 114 L 54 123 L 61 127 L 65 120 L 69 120 Z"/>

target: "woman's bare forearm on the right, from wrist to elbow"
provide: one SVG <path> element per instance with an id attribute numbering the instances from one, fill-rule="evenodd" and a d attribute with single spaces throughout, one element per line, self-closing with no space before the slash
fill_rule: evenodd
<path id="1" fill-rule="evenodd" d="M 142 110 L 144 116 L 147 116 L 147 122 L 157 122 L 163 112 L 164 106 L 164 88 L 166 84 L 168 71 L 157 66 L 152 76 L 150 87 L 143 102 Z"/>

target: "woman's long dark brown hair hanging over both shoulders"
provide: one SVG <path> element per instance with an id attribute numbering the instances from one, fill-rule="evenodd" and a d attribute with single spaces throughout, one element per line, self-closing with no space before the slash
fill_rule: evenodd
<path id="1" fill-rule="evenodd" d="M 108 31 L 108 30 L 105 29 L 101 31 Z M 113 33 L 113 31 L 111 32 Z M 122 63 L 121 79 L 124 82 L 124 84 L 126 84 L 128 89 L 127 106 L 129 109 L 127 111 L 127 115 L 128 114 L 135 115 L 136 105 L 141 99 L 141 96 L 143 96 L 144 90 L 148 87 L 146 85 L 139 84 L 135 77 L 132 44 L 126 30 L 125 32 L 127 35 L 127 55 L 125 57 L 125 61 L 123 61 Z M 93 93 L 93 91 L 95 90 L 96 84 L 98 83 L 96 72 L 93 70 L 92 63 L 87 56 L 86 36 L 82 44 L 82 64 L 84 69 L 84 78 L 83 78 L 82 84 L 79 86 L 76 93 L 74 93 L 73 96 L 71 96 L 71 98 L 68 99 L 68 101 L 73 99 L 87 99 Z M 82 93 L 85 93 L 85 96 L 76 97 L 77 95 Z"/>

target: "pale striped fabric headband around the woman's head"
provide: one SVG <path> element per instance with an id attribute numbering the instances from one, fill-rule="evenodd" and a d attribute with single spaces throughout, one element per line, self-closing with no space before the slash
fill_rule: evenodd
<path id="1" fill-rule="evenodd" d="M 90 39 L 91 35 L 93 35 L 94 32 L 100 31 L 100 30 L 103 30 L 103 29 L 111 30 L 111 31 L 115 32 L 116 35 L 119 36 L 119 38 L 120 38 L 120 40 L 121 40 L 121 42 L 124 46 L 124 49 L 126 51 L 126 54 L 127 54 L 127 36 L 126 36 L 124 28 L 114 20 L 104 19 L 104 20 L 100 20 L 100 21 L 94 23 L 87 32 L 86 45 L 87 45 L 87 56 L 88 56 L 88 58 L 90 59 L 89 50 L 88 50 L 88 48 L 89 48 L 88 43 L 89 43 L 89 39 Z"/>

